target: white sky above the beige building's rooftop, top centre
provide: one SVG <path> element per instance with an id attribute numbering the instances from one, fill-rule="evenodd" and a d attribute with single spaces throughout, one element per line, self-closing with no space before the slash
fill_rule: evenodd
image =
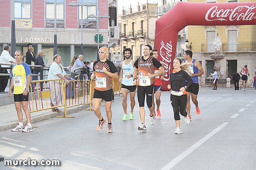
<path id="1" fill-rule="evenodd" d="M 132 11 L 137 11 L 139 4 L 146 4 L 147 0 L 118 0 L 118 14 L 122 14 L 123 6 L 124 10 L 129 11 L 130 5 L 132 4 Z M 148 3 L 156 4 L 158 0 L 148 0 Z"/>

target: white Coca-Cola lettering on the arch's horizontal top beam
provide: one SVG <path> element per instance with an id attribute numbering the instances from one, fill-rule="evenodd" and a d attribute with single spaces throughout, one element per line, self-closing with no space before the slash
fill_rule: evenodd
<path id="1" fill-rule="evenodd" d="M 252 12 L 256 6 L 237 6 L 234 9 L 218 9 L 218 6 L 213 6 L 210 8 L 206 15 L 205 20 L 206 21 L 214 21 L 214 20 L 220 20 L 220 21 L 250 21 L 253 19 L 256 19 L 255 12 Z"/>

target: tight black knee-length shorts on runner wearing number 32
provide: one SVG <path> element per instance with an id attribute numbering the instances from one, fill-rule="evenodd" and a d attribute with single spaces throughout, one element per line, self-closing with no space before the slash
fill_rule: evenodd
<path id="1" fill-rule="evenodd" d="M 137 87 L 137 98 L 138 98 L 138 102 L 139 102 L 139 107 L 144 107 L 145 95 L 146 95 L 147 106 L 149 108 L 152 107 L 153 88 L 154 88 L 154 84 L 152 84 L 150 86 L 138 86 Z"/>

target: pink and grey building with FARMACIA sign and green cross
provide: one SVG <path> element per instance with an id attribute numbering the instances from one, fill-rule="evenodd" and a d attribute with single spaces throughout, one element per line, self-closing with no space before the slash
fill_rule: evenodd
<path id="1" fill-rule="evenodd" d="M 84 61 L 97 58 L 98 18 L 88 18 L 90 14 L 102 16 L 108 14 L 108 0 L 92 1 L 96 6 L 83 6 L 83 44 Z M 68 6 L 72 0 L 56 0 L 56 27 L 58 54 L 62 64 L 68 66 L 74 55 L 80 55 L 81 44 L 81 6 Z M 78 4 L 82 0 L 76 0 Z M 16 49 L 27 51 L 27 43 L 32 43 L 35 55 L 44 51 L 46 65 L 52 63 L 54 43 L 54 0 L 1 0 L 0 5 L 0 46 L 11 43 L 11 20 L 14 13 L 16 25 Z M 99 45 L 108 46 L 108 18 L 99 18 Z"/>

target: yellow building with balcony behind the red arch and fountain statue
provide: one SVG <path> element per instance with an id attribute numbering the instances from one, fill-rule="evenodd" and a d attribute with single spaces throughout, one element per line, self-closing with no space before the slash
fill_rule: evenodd
<path id="1" fill-rule="evenodd" d="M 255 2 L 255 0 L 191 0 L 190 2 L 233 3 Z M 256 25 L 188 26 L 187 39 L 189 44 L 192 43 L 193 58 L 202 63 L 205 72 L 202 78 L 208 77 L 214 68 L 214 60 L 210 55 L 214 53 L 213 43 L 216 36 L 221 39 L 220 52 L 225 55 L 224 59 L 220 60 L 222 75 L 231 77 L 234 70 L 240 72 L 247 64 L 250 72 L 249 80 L 253 79 L 256 69 Z"/>

